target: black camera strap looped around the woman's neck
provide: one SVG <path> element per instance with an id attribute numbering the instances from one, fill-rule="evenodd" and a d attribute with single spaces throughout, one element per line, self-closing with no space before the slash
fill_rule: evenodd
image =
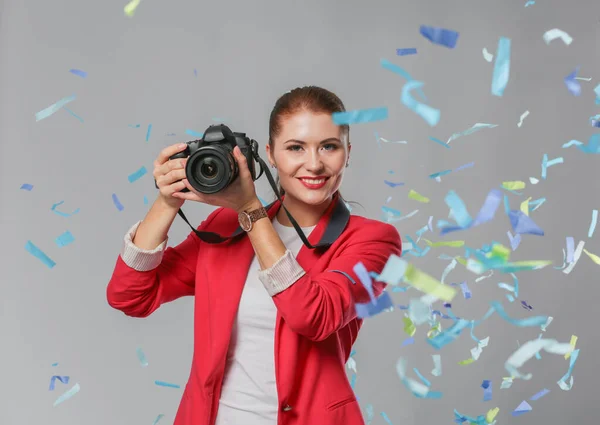
<path id="1" fill-rule="evenodd" d="M 279 193 L 279 190 L 277 189 L 277 184 L 275 183 L 275 179 L 273 178 L 273 175 L 269 171 L 267 164 L 265 164 L 265 162 L 258 155 L 258 153 L 254 154 L 254 159 L 256 161 L 258 161 L 258 163 L 260 164 L 260 167 L 261 167 L 261 173 L 258 175 L 258 177 L 261 176 L 263 171 L 265 172 L 265 174 L 267 175 L 267 180 L 269 180 L 269 184 L 271 185 L 271 188 L 273 188 L 273 191 L 277 195 L 277 199 L 281 203 L 281 206 L 285 210 L 285 213 L 287 214 L 288 218 L 290 219 L 292 226 L 294 226 L 294 229 L 296 229 L 296 233 L 298 233 L 298 236 L 300 236 L 300 239 L 302 239 L 302 242 L 304 243 L 304 245 L 306 245 L 309 249 L 318 249 L 318 248 L 328 248 L 333 242 L 335 242 L 335 240 L 338 238 L 338 236 L 346 228 L 346 225 L 348 224 L 348 220 L 350 219 L 350 211 L 346 207 L 345 203 L 341 199 L 339 199 L 339 197 L 338 197 L 338 199 L 333 200 L 333 202 L 335 202 L 336 204 L 334 206 L 335 210 L 333 211 L 332 217 L 336 217 L 336 219 L 331 220 L 331 222 L 325 229 L 325 233 L 321 237 L 321 240 L 319 241 L 319 243 L 317 243 L 316 245 L 312 245 L 308 241 L 304 232 L 302 231 L 302 228 L 298 225 L 298 223 L 296 222 L 294 217 L 292 217 L 292 214 L 290 214 L 288 209 L 283 204 L 283 199 L 281 199 L 281 194 Z M 257 177 L 257 179 L 258 179 L 258 177 Z M 268 210 L 274 203 L 275 202 L 265 206 L 265 208 Z M 194 228 L 194 226 L 192 226 L 190 224 L 190 222 L 188 221 L 187 217 L 185 216 L 185 214 L 183 213 L 181 208 L 179 209 L 179 211 L 177 211 L 177 214 L 179 214 L 179 216 L 188 224 L 188 226 L 190 226 L 190 228 L 194 231 L 196 236 L 198 236 L 202 241 L 204 241 L 206 243 L 210 243 L 210 244 L 222 243 L 222 242 L 226 242 L 228 240 L 235 239 L 235 238 L 239 237 L 240 235 L 246 233 L 239 226 L 233 232 L 233 234 L 228 237 L 221 236 L 218 233 L 214 233 L 214 232 L 200 231 L 200 230 Z"/>

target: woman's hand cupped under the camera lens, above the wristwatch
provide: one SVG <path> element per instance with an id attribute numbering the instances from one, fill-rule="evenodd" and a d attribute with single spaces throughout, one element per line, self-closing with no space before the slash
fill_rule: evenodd
<path id="1" fill-rule="evenodd" d="M 248 169 L 246 157 L 238 146 L 233 149 L 233 156 L 237 161 L 239 174 L 224 190 L 212 194 L 200 193 L 190 185 L 187 179 L 184 179 L 183 182 L 190 191 L 175 192 L 172 196 L 217 207 L 230 208 L 237 212 L 244 211 L 248 206 L 256 204 L 258 196 L 256 195 L 254 180 L 252 180 L 252 174 Z"/>

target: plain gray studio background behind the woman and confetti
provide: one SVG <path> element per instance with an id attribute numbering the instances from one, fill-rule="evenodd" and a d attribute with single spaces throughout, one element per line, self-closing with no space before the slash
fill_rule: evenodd
<path id="1" fill-rule="evenodd" d="M 513 208 L 526 197 L 546 197 L 532 213 L 546 232 L 526 235 L 515 260 L 548 259 L 562 264 L 566 236 L 586 240 L 600 254 L 597 234 L 587 238 L 592 209 L 600 207 L 600 186 L 594 173 L 599 158 L 561 145 L 571 139 L 587 142 L 593 133 L 588 118 L 599 112 L 593 87 L 600 82 L 598 60 L 599 3 L 593 0 L 372 0 L 372 1 L 219 1 L 144 0 L 133 18 L 123 14 L 125 0 L 76 1 L 5 0 L 0 3 L 0 193 L 2 280 L 0 300 L 1 349 L 0 423 L 21 424 L 148 424 L 159 413 L 172 423 L 182 389 L 154 385 L 155 380 L 183 388 L 192 355 L 192 299 L 163 306 L 145 320 L 127 318 L 112 310 L 105 298 L 125 231 L 143 218 L 156 196 L 152 161 L 165 146 L 189 139 L 186 129 L 202 132 L 220 118 L 260 142 L 267 137 L 268 115 L 283 92 L 316 84 L 338 93 L 348 109 L 387 106 L 384 122 L 355 125 L 353 152 L 342 193 L 360 202 L 353 212 L 382 219 L 380 207 L 415 217 L 396 224 L 402 235 L 413 235 L 427 223 L 448 214 L 444 195 L 454 189 L 476 214 L 488 191 L 502 181 L 524 180 L 523 195 L 510 194 Z M 460 32 L 450 50 L 433 45 L 419 34 L 427 24 Z M 546 45 L 542 34 L 560 28 L 573 36 L 570 46 L 560 40 Z M 498 38 L 512 40 L 510 82 L 503 97 L 490 93 L 493 64 L 483 59 L 487 47 L 495 53 Z M 418 54 L 397 57 L 396 48 L 416 47 Z M 441 110 L 434 128 L 404 107 L 404 80 L 380 66 L 396 63 L 425 83 L 428 103 Z M 580 66 L 582 94 L 572 96 L 563 78 Z M 88 72 L 83 79 L 69 73 Z M 194 75 L 197 69 L 197 77 Z M 59 99 L 76 94 L 64 110 L 35 122 L 34 114 Z M 519 116 L 531 114 L 518 128 Z M 429 140 L 447 140 L 477 122 L 497 128 L 452 142 L 451 149 Z M 128 127 L 140 124 L 140 128 Z M 146 142 L 146 128 L 153 125 Z M 377 131 L 388 140 L 408 144 L 379 146 Z M 167 136 L 175 133 L 176 136 Z M 563 156 L 538 185 L 544 153 Z M 450 174 L 437 183 L 427 176 L 475 161 L 473 168 Z M 148 174 L 135 183 L 127 176 L 140 166 Z M 394 170 L 395 174 L 388 174 Z M 390 188 L 383 179 L 403 181 Z M 34 185 L 31 192 L 20 190 Z M 259 195 L 272 199 L 268 182 L 257 183 Z M 415 189 L 432 199 L 419 204 L 407 198 Z M 124 211 L 112 203 L 116 193 Z M 54 203 L 70 212 L 61 217 Z M 186 205 L 199 223 L 212 207 Z M 509 246 L 509 221 L 502 209 L 496 219 L 478 229 L 444 239 L 466 239 L 469 246 L 497 240 Z M 75 242 L 59 248 L 54 239 L 69 230 Z M 170 243 L 179 243 L 187 225 L 176 220 Z M 600 230 L 599 230 L 600 231 Z M 427 233 L 430 240 L 441 240 Z M 43 249 L 57 265 L 48 269 L 28 254 L 27 240 Z M 461 249 L 436 248 L 414 264 L 440 277 L 448 261 L 442 253 Z M 217 265 L 218 266 L 218 265 Z M 393 424 L 449 424 L 453 409 L 471 416 L 500 407 L 498 423 L 598 423 L 596 298 L 600 293 L 598 266 L 583 255 L 570 275 L 547 267 L 519 274 L 521 296 L 534 307 L 529 313 L 518 302 L 509 304 L 495 274 L 474 283 L 475 275 L 458 266 L 449 282 L 467 280 L 473 298 L 456 297 L 453 309 L 466 318 L 479 318 L 491 300 L 504 302 L 513 317 L 542 314 L 554 317 L 545 337 L 568 342 L 579 337 L 575 384 L 569 392 L 556 381 L 566 372 L 562 356 L 542 354 L 524 371 L 531 381 L 516 380 L 500 390 L 504 361 L 519 343 L 537 338 L 539 328 L 516 328 L 494 316 L 476 329 L 490 345 L 470 365 L 475 345 L 468 333 L 440 351 L 443 374 L 430 374 L 432 347 L 425 342 L 427 327 L 419 327 L 415 345 L 401 347 L 403 312 L 366 321 L 358 342 L 356 392 L 361 406 L 374 406 L 373 424 L 384 424 L 385 411 Z M 218 284 L 218 282 L 215 282 Z M 406 294 L 392 294 L 408 304 Z M 448 321 L 444 322 L 446 325 Z M 149 366 L 142 368 L 136 348 L 142 347 Z M 441 400 L 413 397 L 400 383 L 395 363 L 407 359 L 412 367 L 443 392 Z M 58 366 L 51 365 L 58 362 Z M 48 391 L 52 375 L 68 375 L 68 385 Z M 349 375 L 350 376 L 350 375 Z M 483 402 L 483 379 L 493 381 L 494 398 Z M 81 391 L 53 407 L 54 400 L 75 383 Z M 551 393 L 530 402 L 533 411 L 514 418 L 510 412 L 542 388 Z"/>

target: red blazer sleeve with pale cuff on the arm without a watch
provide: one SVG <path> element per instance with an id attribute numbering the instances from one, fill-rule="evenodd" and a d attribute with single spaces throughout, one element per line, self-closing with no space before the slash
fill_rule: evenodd
<path id="1" fill-rule="evenodd" d="M 212 212 L 198 230 L 204 230 L 218 211 Z M 137 225 L 130 232 L 136 229 Z M 152 251 L 135 247 L 131 233 L 125 236 L 106 288 L 111 307 L 127 316 L 147 317 L 164 303 L 194 294 L 196 260 L 201 246 L 194 232 L 175 247 L 164 249 L 165 241 Z"/>

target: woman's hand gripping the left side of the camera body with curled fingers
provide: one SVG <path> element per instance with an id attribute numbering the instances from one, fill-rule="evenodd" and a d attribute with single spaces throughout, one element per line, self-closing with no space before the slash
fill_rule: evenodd
<path id="1" fill-rule="evenodd" d="M 169 159 L 170 156 L 182 152 L 186 148 L 185 143 L 177 143 L 167 146 L 154 161 L 154 180 L 159 189 L 159 198 L 169 207 L 181 208 L 185 199 L 175 198 L 173 193 L 180 192 L 185 188 L 185 163 L 187 159 Z"/>

